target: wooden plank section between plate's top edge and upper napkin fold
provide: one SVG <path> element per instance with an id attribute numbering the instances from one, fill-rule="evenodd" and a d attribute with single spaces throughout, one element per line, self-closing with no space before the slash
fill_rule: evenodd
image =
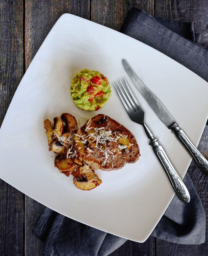
<path id="1" fill-rule="evenodd" d="M 154 0 L 92 0 L 91 19 L 119 31 L 127 12 L 132 7 L 141 8 L 154 15 Z"/>

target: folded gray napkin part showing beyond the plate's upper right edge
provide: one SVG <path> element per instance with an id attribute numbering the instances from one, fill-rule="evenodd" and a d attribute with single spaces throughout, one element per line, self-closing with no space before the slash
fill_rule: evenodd
<path id="1" fill-rule="evenodd" d="M 208 82 L 208 51 L 198 44 L 200 35 L 194 33 L 193 22 L 152 17 L 132 8 L 121 32 L 178 61 Z"/>

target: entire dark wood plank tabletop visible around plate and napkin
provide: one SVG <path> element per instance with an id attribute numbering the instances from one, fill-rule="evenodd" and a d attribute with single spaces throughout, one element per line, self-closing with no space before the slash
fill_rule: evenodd
<path id="1" fill-rule="evenodd" d="M 0 125 L 17 86 L 52 26 L 63 13 L 72 13 L 119 30 L 131 7 L 152 15 L 194 21 L 208 49 L 207 0 L 0 0 Z M 208 126 L 199 144 L 208 157 Z M 8 163 L 9 164 L 9 163 Z M 188 170 L 208 219 L 208 178 L 192 162 Z M 44 244 L 32 233 L 43 205 L 0 180 L 0 255 L 40 256 Z M 201 245 L 180 245 L 149 237 L 127 241 L 111 256 L 207 256 Z"/>

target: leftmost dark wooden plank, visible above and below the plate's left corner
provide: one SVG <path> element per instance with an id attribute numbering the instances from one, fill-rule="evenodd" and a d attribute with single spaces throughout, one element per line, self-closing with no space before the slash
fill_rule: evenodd
<path id="1" fill-rule="evenodd" d="M 0 126 L 23 76 L 23 1 L 0 1 Z M 0 180 L 0 254 L 23 255 L 24 195 Z"/>

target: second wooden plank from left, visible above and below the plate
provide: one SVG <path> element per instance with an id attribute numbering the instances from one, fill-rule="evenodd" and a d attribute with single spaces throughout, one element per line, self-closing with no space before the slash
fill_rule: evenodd
<path id="1" fill-rule="evenodd" d="M 64 13 L 71 13 L 90 19 L 90 1 L 35 1 L 26 0 L 25 4 L 25 69 L 40 48 L 50 29 Z M 34 224 L 44 206 L 30 197 L 25 199 L 25 255 L 42 255 L 44 244 L 32 233 Z"/>

